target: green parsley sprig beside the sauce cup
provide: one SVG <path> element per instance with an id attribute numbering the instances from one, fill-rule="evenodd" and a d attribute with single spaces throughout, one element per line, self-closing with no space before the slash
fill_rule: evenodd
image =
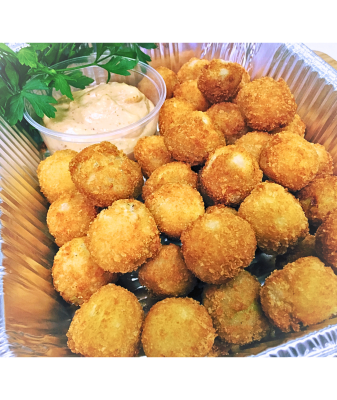
<path id="1" fill-rule="evenodd" d="M 71 86 L 84 89 L 93 79 L 83 75 L 80 69 L 98 65 L 112 73 L 130 75 L 138 61 L 148 63 L 151 58 L 141 48 L 155 49 L 154 43 L 29 43 L 17 53 L 0 43 L 0 114 L 10 125 L 23 118 L 25 101 L 28 101 L 39 117 L 55 117 L 57 101 L 54 97 L 36 91 L 55 88 L 71 100 Z M 65 69 L 51 68 L 61 61 L 88 56 L 96 52 L 92 63 Z"/>

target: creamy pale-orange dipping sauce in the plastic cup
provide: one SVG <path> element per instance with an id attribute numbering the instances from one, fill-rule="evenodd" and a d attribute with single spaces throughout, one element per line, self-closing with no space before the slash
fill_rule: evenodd
<path id="1" fill-rule="evenodd" d="M 136 87 L 109 82 L 62 96 L 55 118 L 43 117 L 46 128 L 78 135 L 111 132 L 139 121 L 153 110 L 153 103 Z"/>

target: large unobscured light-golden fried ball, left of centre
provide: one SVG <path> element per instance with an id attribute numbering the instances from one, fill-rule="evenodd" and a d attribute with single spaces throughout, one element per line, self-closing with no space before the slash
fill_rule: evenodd
<path id="1" fill-rule="evenodd" d="M 117 200 L 90 225 L 87 246 L 105 271 L 131 272 L 160 250 L 156 223 L 137 200 Z"/>

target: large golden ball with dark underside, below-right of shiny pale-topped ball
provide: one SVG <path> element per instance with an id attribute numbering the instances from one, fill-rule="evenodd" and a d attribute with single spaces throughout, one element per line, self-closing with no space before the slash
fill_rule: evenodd
<path id="1" fill-rule="evenodd" d="M 251 224 L 258 247 L 267 254 L 284 254 L 309 233 L 298 200 L 273 182 L 257 185 L 241 203 L 238 215 Z"/>

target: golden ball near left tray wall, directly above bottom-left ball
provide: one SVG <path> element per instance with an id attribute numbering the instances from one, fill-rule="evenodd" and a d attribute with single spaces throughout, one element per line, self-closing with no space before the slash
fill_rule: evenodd
<path id="1" fill-rule="evenodd" d="M 54 258 L 53 284 L 65 301 L 76 306 L 109 282 L 116 282 L 118 274 L 105 272 L 92 260 L 85 237 L 64 244 Z"/>

